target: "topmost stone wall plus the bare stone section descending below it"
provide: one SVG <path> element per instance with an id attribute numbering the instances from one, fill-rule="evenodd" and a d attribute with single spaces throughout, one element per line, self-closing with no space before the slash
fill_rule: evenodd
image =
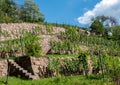
<path id="1" fill-rule="evenodd" d="M 46 54 L 50 50 L 50 41 L 58 41 L 57 35 L 60 32 L 65 32 L 65 28 L 56 26 L 47 26 L 42 24 L 32 24 L 32 23 L 3 23 L 0 24 L 0 28 L 3 34 L 0 36 L 0 41 L 11 40 L 20 38 L 22 35 L 22 30 L 30 31 L 35 30 L 35 28 L 40 29 L 38 33 L 39 38 L 41 38 L 42 54 Z M 21 52 L 21 51 L 20 51 Z M 21 56 L 21 54 L 18 54 Z"/>

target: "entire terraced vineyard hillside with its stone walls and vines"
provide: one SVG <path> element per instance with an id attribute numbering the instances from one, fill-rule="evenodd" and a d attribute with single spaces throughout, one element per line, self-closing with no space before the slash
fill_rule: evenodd
<path id="1" fill-rule="evenodd" d="M 19 75 L 20 69 L 20 75 L 28 79 L 81 74 L 99 74 L 104 78 L 108 75 L 105 72 L 110 71 L 119 74 L 117 41 L 70 25 L 3 23 L 0 27 L 1 58 L 15 58 L 8 62 L 10 75 Z M 1 61 L 0 71 L 4 74 L 0 76 L 7 73 L 6 63 Z M 115 77 L 119 82 L 119 75 Z"/>

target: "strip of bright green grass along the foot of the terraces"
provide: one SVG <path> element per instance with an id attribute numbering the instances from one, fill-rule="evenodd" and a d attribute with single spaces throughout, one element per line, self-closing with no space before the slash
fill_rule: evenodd
<path id="1" fill-rule="evenodd" d="M 0 78 L 0 85 L 5 85 L 6 78 Z M 103 82 L 103 79 L 84 76 L 62 76 L 53 78 L 42 78 L 38 80 L 23 80 L 16 77 L 9 77 L 8 85 L 113 85 L 110 82 Z"/>

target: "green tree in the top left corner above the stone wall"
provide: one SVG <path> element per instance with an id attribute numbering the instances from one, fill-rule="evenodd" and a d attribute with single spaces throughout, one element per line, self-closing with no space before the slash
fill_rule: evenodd
<path id="1" fill-rule="evenodd" d="M 0 0 L 0 22 L 18 22 L 17 4 L 13 0 Z"/>

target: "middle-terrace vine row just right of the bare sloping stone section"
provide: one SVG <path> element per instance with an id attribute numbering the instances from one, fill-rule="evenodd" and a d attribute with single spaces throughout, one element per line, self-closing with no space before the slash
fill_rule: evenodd
<path id="1" fill-rule="evenodd" d="M 51 53 L 57 54 L 75 54 L 79 51 L 78 44 L 72 43 L 68 40 L 63 40 L 59 42 L 50 42 Z"/>

